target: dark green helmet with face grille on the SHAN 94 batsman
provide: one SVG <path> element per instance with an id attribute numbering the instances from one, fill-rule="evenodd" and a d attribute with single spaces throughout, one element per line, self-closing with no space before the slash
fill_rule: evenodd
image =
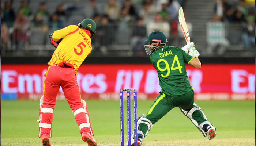
<path id="1" fill-rule="evenodd" d="M 153 51 L 157 50 L 160 46 L 168 45 L 166 35 L 159 30 L 151 32 L 144 42 L 150 43 L 149 45 L 145 45 L 145 50 L 148 55 L 151 55 Z"/>

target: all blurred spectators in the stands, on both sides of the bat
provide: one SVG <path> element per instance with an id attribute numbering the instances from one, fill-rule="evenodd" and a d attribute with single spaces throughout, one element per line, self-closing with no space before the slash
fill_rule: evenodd
<path id="1" fill-rule="evenodd" d="M 94 50 L 108 55 L 111 50 L 126 48 L 136 55 L 144 55 L 144 40 L 151 31 L 161 30 L 169 40 L 178 36 L 178 10 L 185 1 L 7 0 L 1 5 L 1 52 L 47 45 L 48 34 L 91 18 L 97 23 L 92 39 Z M 255 37 L 255 27 L 254 30 L 250 27 L 255 26 L 255 12 L 244 0 L 234 1 L 238 3 L 231 5 L 227 0 L 216 0 L 214 21 L 247 24 L 243 38 L 251 40 L 252 35 Z M 251 45 L 252 41 L 245 43 Z"/>

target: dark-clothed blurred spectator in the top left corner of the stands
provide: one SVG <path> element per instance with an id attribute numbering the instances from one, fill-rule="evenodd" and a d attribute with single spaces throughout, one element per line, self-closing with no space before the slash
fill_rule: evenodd
<path id="1" fill-rule="evenodd" d="M 5 24 L 10 28 L 13 27 L 13 23 L 15 20 L 15 13 L 11 8 L 10 1 L 5 1 L 4 10 L 3 10 L 3 19 L 1 18 L 1 22 L 5 22 Z"/>

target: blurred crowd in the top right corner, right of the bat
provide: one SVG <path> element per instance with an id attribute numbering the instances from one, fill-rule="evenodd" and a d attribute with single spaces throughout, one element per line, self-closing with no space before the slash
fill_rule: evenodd
<path id="1" fill-rule="evenodd" d="M 255 0 L 215 0 L 213 22 L 229 23 L 234 28 L 240 27 L 238 29 L 241 31 L 233 31 L 234 35 L 241 36 L 244 46 L 255 51 Z M 232 30 L 231 28 L 230 31 Z M 232 37 L 236 38 L 234 35 Z M 230 41 L 236 43 L 240 40 L 232 41 L 231 38 Z"/>

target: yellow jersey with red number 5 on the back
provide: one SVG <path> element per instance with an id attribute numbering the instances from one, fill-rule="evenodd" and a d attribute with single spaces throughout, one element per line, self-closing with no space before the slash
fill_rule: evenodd
<path id="1" fill-rule="evenodd" d="M 77 75 L 79 66 L 91 53 L 90 31 L 83 30 L 76 25 L 70 25 L 54 31 L 52 38 L 55 42 L 62 40 L 48 64 L 50 66 L 58 66 L 60 62 L 65 61 L 73 65 Z"/>

